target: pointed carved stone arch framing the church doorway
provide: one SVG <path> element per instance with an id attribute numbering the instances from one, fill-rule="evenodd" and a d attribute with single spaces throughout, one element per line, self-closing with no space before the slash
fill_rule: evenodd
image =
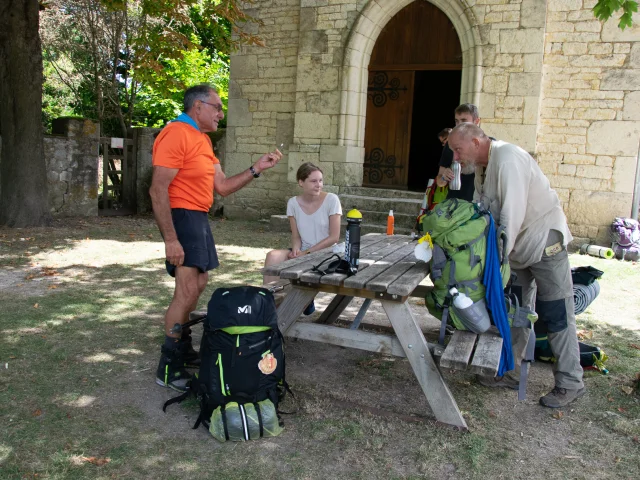
<path id="1" fill-rule="evenodd" d="M 345 48 L 342 68 L 338 145 L 347 162 L 364 159 L 368 66 L 382 28 L 414 0 L 372 0 L 356 20 Z M 423 0 L 415 0 L 423 1 Z M 466 0 L 429 0 L 451 20 L 462 47 L 461 100 L 479 104 L 482 89 L 480 32 Z"/>

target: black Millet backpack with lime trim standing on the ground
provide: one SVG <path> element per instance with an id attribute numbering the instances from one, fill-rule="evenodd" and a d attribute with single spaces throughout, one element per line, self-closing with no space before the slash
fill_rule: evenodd
<path id="1" fill-rule="evenodd" d="M 200 400 L 193 428 L 203 424 L 218 440 L 279 435 L 278 404 L 285 382 L 283 339 L 273 294 L 260 287 L 218 288 L 203 323 L 200 371 L 190 394 Z"/>

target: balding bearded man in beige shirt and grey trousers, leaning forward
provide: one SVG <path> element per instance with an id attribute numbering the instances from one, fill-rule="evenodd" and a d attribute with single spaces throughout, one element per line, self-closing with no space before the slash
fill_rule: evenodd
<path id="1" fill-rule="evenodd" d="M 567 244 L 572 240 L 558 195 L 535 160 L 522 148 L 491 140 L 480 127 L 463 123 L 449 135 L 454 159 L 462 165 L 484 167 L 476 173 L 474 200 L 506 229 L 507 254 L 523 303 L 532 306 L 546 327 L 556 363 L 555 387 L 540 398 L 546 407 L 564 407 L 584 395 L 576 335 L 571 268 Z M 527 337 L 512 329 L 514 358 L 522 358 Z M 513 388 L 507 376 L 493 386 Z"/>

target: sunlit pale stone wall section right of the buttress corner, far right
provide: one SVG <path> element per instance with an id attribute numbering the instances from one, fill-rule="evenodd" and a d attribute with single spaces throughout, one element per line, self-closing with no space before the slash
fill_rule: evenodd
<path id="1" fill-rule="evenodd" d="M 594 20 L 591 0 L 549 0 L 537 158 L 581 241 L 631 211 L 640 140 L 640 27 Z M 634 58 L 637 52 L 638 58 Z"/>

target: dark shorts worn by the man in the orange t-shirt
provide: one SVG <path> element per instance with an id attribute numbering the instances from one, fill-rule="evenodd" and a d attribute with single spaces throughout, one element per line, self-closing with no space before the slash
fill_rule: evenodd
<path id="1" fill-rule="evenodd" d="M 178 235 L 178 241 L 184 250 L 182 266 L 195 267 L 201 272 L 217 268 L 220 263 L 207 212 L 172 208 L 171 218 L 176 235 Z M 175 277 L 175 265 L 171 265 L 167 261 L 165 261 L 165 265 L 167 273 Z"/>

